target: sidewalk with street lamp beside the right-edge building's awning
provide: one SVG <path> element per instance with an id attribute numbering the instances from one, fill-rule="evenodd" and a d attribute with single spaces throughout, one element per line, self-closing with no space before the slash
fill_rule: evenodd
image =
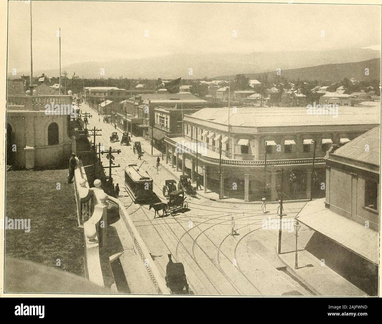
<path id="1" fill-rule="evenodd" d="M 321 260 L 305 250 L 313 233 L 314 231 L 301 225 L 298 232 L 298 268 L 295 269 L 296 235 L 295 232 L 283 231 L 282 253 L 277 255 L 288 272 L 318 296 L 367 296 L 365 292 L 328 266 L 322 265 Z"/>

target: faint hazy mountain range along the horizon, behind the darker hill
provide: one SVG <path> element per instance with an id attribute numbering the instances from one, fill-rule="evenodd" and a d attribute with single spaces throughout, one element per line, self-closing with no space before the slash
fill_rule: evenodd
<path id="1" fill-rule="evenodd" d="M 99 78 L 100 69 L 105 69 L 105 79 L 108 77 L 175 79 L 202 79 L 204 77 L 229 76 L 238 73 L 256 74 L 276 71 L 280 68 L 300 69 L 320 64 L 340 64 L 360 62 L 379 58 L 380 51 L 366 48 L 345 48 L 312 51 L 283 51 L 283 52 L 253 52 L 249 54 L 235 53 L 176 53 L 134 60 L 109 60 L 103 62 L 88 61 L 62 66 L 62 71 L 68 71 L 69 76 L 76 72 L 77 76 L 85 78 Z M 191 70 L 192 69 L 192 70 Z M 191 74 L 192 71 L 192 74 Z M 11 72 L 11 71 L 9 71 Z M 327 71 L 328 73 L 330 70 Z M 28 71 L 18 71 L 28 74 Z M 42 73 L 48 76 L 58 76 L 56 70 L 34 69 L 34 75 Z M 303 74 L 301 74 L 303 75 Z M 11 75 L 10 75 L 11 77 Z M 351 75 L 353 77 L 353 75 Z M 354 75 L 354 77 L 356 77 Z M 318 76 L 317 76 L 318 78 Z"/>

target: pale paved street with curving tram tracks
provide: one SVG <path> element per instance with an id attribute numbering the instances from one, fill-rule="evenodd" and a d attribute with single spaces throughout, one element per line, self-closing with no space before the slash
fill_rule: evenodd
<path id="1" fill-rule="evenodd" d="M 89 106 L 81 105 L 82 113 L 93 115 L 88 128 L 102 129 L 102 136 L 96 137 L 105 148 L 110 146 L 112 124 L 98 121 L 97 112 Z M 119 132 L 119 138 L 121 133 Z M 92 138 L 89 138 L 91 140 Z M 139 138 L 142 140 L 141 138 Z M 132 142 L 136 140 L 131 138 Z M 132 146 L 113 143 L 112 148 L 121 149 L 114 154 L 114 183 L 120 184 L 120 200 L 125 205 L 137 229 L 146 241 L 150 253 L 159 270 L 165 276 L 168 253 L 174 262 L 182 262 L 190 289 L 194 294 L 205 295 L 311 295 L 295 277 L 286 271 L 278 270 L 284 264 L 277 256 L 278 230 L 262 229 L 263 220 L 278 219 L 277 205 L 267 205 L 267 214 L 261 205 L 219 203 L 205 198 L 187 197 L 188 211 L 179 211 L 172 216 L 157 217 L 147 205 L 134 204 L 127 195 L 123 180 L 124 167 L 131 163 L 142 163 L 154 180 L 154 191 L 165 201 L 162 186 L 165 179 L 174 179 L 166 168 L 155 167 L 156 156 L 145 153 L 137 160 Z M 108 161 L 101 156 L 103 165 Z M 161 163 L 165 163 L 161 161 Z M 105 172 L 108 174 L 108 170 Z M 305 203 L 284 205 L 283 219 L 293 219 Z M 235 217 L 237 234 L 231 235 L 231 217 Z M 288 229 L 283 230 L 288 231 Z M 288 244 L 283 241 L 283 244 Z"/>

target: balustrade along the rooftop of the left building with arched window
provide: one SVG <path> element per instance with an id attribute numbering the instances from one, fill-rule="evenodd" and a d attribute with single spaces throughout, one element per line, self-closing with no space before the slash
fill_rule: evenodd
<path id="1" fill-rule="evenodd" d="M 10 95 L 7 97 L 8 110 L 45 110 L 45 105 L 70 105 L 73 97 L 70 95 Z"/>

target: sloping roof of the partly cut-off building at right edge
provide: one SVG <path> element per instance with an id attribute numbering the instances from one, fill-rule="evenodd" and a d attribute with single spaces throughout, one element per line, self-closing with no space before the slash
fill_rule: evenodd
<path id="1" fill-rule="evenodd" d="M 369 145 L 365 150 L 365 145 Z M 380 126 L 356 137 L 334 152 L 335 155 L 379 166 Z"/>

